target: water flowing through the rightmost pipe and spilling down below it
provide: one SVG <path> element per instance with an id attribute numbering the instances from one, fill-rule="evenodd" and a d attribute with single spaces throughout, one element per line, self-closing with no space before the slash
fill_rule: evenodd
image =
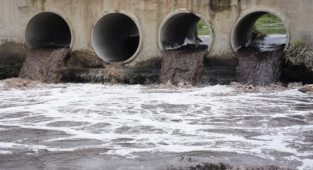
<path id="1" fill-rule="evenodd" d="M 286 35 L 267 35 L 238 49 L 238 82 L 254 86 L 280 83 L 286 41 Z"/>

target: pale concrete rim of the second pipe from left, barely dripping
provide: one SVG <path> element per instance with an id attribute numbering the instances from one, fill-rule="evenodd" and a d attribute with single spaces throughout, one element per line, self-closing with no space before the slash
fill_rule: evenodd
<path id="1" fill-rule="evenodd" d="M 135 59 L 135 58 L 138 56 L 138 53 L 140 52 L 141 47 L 142 47 L 142 36 L 143 36 L 143 35 L 142 35 L 142 29 L 141 29 L 140 24 L 139 24 L 139 22 L 138 22 L 138 19 L 137 19 L 137 17 L 136 17 L 135 15 L 132 15 L 132 14 L 130 14 L 130 13 L 128 13 L 128 12 L 125 12 L 125 11 L 109 11 L 109 12 L 105 12 L 105 13 L 103 13 L 102 15 L 100 15 L 100 17 L 96 20 L 96 22 L 94 23 L 94 25 L 93 25 L 93 27 L 92 27 L 92 30 L 91 30 L 91 46 L 92 46 L 92 49 L 93 49 L 93 51 L 96 53 L 96 55 L 97 55 L 102 61 L 104 61 L 106 64 L 110 64 L 110 61 L 107 61 L 106 59 L 102 58 L 102 57 L 97 53 L 97 51 L 95 50 L 95 47 L 94 47 L 94 45 L 93 45 L 93 44 L 94 44 L 93 35 L 94 35 L 95 28 L 96 28 L 97 24 L 99 23 L 99 21 L 100 21 L 103 17 L 105 17 L 105 16 L 107 16 L 107 15 L 109 15 L 109 14 L 123 14 L 123 15 L 127 16 L 129 19 L 131 19 L 131 20 L 135 23 L 135 25 L 136 25 L 136 27 L 137 27 L 137 29 L 138 29 L 138 32 L 139 32 L 139 44 L 138 44 L 137 50 L 136 50 L 136 52 L 135 52 L 131 57 L 129 57 L 127 60 L 122 61 L 123 64 L 127 64 L 127 63 L 131 62 L 133 59 Z"/>

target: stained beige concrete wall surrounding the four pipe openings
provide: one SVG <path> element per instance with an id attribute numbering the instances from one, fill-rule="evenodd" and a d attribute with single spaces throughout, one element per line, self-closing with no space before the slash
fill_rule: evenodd
<path id="1" fill-rule="evenodd" d="M 93 51 L 92 30 L 105 14 L 121 12 L 130 16 L 138 24 L 142 40 L 137 55 L 126 67 L 136 67 L 137 63 L 161 56 L 158 40 L 162 24 L 181 11 L 198 15 L 211 27 L 213 39 L 208 55 L 211 65 L 236 65 L 232 30 L 240 18 L 255 11 L 268 11 L 280 17 L 289 32 L 290 44 L 304 36 L 313 42 L 313 0 L 0 0 L 0 4 L 0 51 L 2 48 L 6 53 L 19 48 L 8 49 L 4 44 L 25 44 L 28 22 L 44 11 L 54 12 L 68 22 L 72 52 Z"/>

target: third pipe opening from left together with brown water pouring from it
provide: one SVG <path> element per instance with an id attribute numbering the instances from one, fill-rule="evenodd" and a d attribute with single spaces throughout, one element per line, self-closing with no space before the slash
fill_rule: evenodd
<path id="1" fill-rule="evenodd" d="M 202 39 L 198 36 L 200 19 L 195 14 L 179 13 L 163 25 L 160 41 L 165 51 L 162 58 L 161 83 L 199 83 L 204 56 L 208 50 L 208 45 L 204 43 L 209 44 L 210 41 L 209 35 L 202 36 Z M 203 20 L 200 23 L 205 26 Z M 206 32 L 209 34 L 210 31 Z"/>

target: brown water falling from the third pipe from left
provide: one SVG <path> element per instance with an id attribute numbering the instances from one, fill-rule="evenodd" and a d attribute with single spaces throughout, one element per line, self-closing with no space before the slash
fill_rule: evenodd
<path id="1" fill-rule="evenodd" d="M 207 45 L 186 45 L 164 51 L 160 82 L 174 85 L 198 84 L 207 48 Z"/>

